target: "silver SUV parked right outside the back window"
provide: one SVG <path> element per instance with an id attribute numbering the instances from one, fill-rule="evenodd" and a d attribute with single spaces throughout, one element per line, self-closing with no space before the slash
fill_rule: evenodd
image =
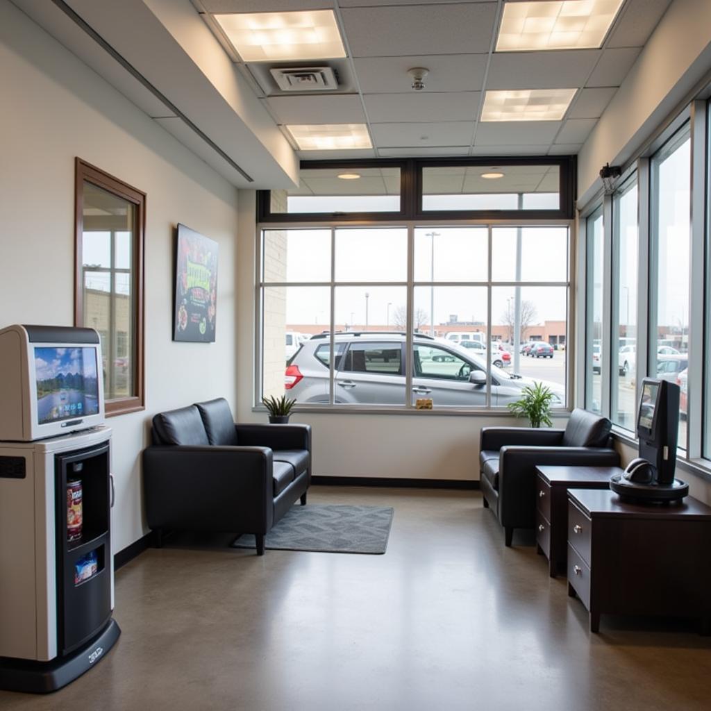
<path id="1" fill-rule="evenodd" d="M 330 333 L 301 344 L 287 365 L 285 387 L 297 402 L 328 402 Z M 486 360 L 444 339 L 415 334 L 412 398 L 431 397 L 435 407 L 486 405 Z M 402 405 L 405 402 L 405 334 L 353 331 L 336 333 L 335 402 L 358 405 Z M 491 366 L 491 405 L 518 400 L 533 380 Z M 565 404 L 559 385 L 554 405 Z"/>

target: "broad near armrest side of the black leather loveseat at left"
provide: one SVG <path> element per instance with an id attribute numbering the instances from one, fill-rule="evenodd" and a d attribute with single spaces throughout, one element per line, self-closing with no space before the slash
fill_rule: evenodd
<path id="1" fill-rule="evenodd" d="M 267 447 L 152 446 L 143 452 L 150 528 L 266 533 L 274 519 Z"/>

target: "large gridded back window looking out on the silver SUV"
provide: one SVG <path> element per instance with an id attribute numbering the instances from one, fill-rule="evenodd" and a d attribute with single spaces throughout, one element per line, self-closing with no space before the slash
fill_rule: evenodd
<path id="1" fill-rule="evenodd" d="M 538 380 L 565 406 L 567 225 L 284 226 L 261 240 L 257 399 L 496 408 Z"/>

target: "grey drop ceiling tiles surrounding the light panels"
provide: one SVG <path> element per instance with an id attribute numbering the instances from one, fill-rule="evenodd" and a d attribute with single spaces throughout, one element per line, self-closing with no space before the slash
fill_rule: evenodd
<path id="1" fill-rule="evenodd" d="M 373 155 L 407 157 L 472 156 L 486 154 L 487 149 L 492 154 L 506 149 L 508 154 L 514 147 L 526 155 L 558 154 L 564 146 L 577 152 L 670 0 L 626 0 L 600 49 L 516 53 L 493 51 L 504 0 L 202 0 L 202 4 L 208 12 L 331 7 L 341 27 L 355 92 L 279 95 L 263 102 L 282 125 L 296 123 L 294 118 L 314 124 L 365 122 Z M 407 69 L 415 66 L 429 68 L 422 92 L 410 87 Z M 486 90 L 543 88 L 577 89 L 562 121 L 479 122 Z M 349 151 L 320 154 L 324 159 L 354 156 Z M 314 151 L 299 151 L 299 156 L 313 158 Z"/>

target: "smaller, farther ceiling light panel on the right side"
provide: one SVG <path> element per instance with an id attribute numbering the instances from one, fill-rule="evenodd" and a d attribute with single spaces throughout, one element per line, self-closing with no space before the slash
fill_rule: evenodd
<path id="1" fill-rule="evenodd" d="M 577 89 L 488 91 L 482 121 L 560 121 Z"/>

